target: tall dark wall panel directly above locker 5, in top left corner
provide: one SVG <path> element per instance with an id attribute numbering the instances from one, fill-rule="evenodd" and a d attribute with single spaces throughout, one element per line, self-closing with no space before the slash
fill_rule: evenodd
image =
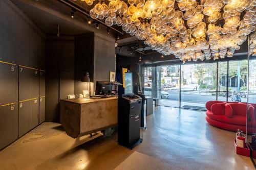
<path id="1" fill-rule="evenodd" d="M 0 1 L 0 61 L 15 63 L 15 6 Z"/>

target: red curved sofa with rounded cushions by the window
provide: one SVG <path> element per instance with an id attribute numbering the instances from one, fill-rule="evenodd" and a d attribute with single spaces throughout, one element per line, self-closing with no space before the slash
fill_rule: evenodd
<path id="1" fill-rule="evenodd" d="M 207 109 L 205 119 L 210 125 L 229 131 L 240 129 L 246 132 L 246 103 L 209 101 L 205 107 Z M 255 127 L 254 107 L 255 105 L 249 104 L 249 128 Z"/>

